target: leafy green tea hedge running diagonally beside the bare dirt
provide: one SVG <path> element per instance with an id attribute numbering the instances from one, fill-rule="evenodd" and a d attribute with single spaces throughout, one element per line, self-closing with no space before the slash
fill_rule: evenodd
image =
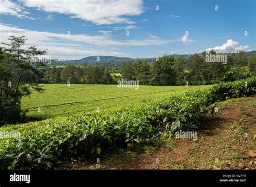
<path id="1" fill-rule="evenodd" d="M 30 124 L 9 125 L 21 139 L 1 139 L 1 169 L 50 169 L 71 157 L 150 142 L 160 131 L 195 130 L 212 103 L 255 94 L 255 78 L 214 85 L 110 111 L 87 112 Z"/>

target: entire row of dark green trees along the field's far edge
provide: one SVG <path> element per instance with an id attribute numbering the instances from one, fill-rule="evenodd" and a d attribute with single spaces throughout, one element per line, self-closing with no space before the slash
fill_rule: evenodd
<path id="1" fill-rule="evenodd" d="M 216 54 L 211 51 L 212 55 Z M 235 81 L 256 75 L 256 54 L 246 56 L 245 52 L 227 55 L 224 62 L 207 62 L 206 52 L 176 57 L 163 55 L 151 62 L 136 59 L 126 60 L 120 68 L 106 68 L 100 65 L 82 66 L 67 64 L 64 68 L 56 66 L 41 68 L 40 76 L 31 70 L 24 72 L 22 82 L 30 83 L 67 83 L 72 84 L 117 84 L 117 81 L 139 81 L 140 85 L 201 85 L 214 84 L 221 81 Z M 114 75 L 120 73 L 120 76 Z M 112 74 L 112 75 L 111 75 Z"/>

